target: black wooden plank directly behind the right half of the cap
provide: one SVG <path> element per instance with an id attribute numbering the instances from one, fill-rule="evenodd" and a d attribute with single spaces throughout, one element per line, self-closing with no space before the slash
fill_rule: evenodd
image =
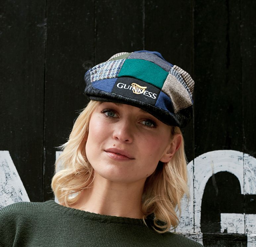
<path id="1" fill-rule="evenodd" d="M 193 78 L 193 1 L 145 1 L 145 50 L 158 51 Z M 188 161 L 194 158 L 193 121 L 182 129 Z"/>

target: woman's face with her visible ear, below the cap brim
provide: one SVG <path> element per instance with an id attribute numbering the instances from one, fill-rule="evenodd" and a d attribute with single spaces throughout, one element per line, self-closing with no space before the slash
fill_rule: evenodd
<path id="1" fill-rule="evenodd" d="M 140 108 L 103 102 L 93 111 L 86 156 L 95 172 L 116 182 L 145 182 L 160 161 L 168 162 L 171 126 Z"/>

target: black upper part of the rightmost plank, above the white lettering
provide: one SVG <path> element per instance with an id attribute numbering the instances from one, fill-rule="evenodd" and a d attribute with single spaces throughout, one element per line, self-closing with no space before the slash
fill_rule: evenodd
<path id="1" fill-rule="evenodd" d="M 256 158 L 256 2 L 241 1 L 241 54 L 244 152 Z"/>

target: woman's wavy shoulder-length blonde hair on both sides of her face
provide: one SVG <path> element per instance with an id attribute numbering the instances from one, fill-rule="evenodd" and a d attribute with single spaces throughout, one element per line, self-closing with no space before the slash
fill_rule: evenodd
<path id="1" fill-rule="evenodd" d="M 72 207 L 79 199 L 79 193 L 93 182 L 94 171 L 86 158 L 85 143 L 92 112 L 100 104 L 91 100 L 78 116 L 69 140 L 61 146 L 62 155 L 57 160 L 63 169 L 52 178 L 52 190 L 59 202 Z M 172 136 L 181 134 L 179 127 L 172 127 Z M 182 137 L 182 134 L 181 134 Z M 72 196 L 76 194 L 77 196 Z M 160 233 L 175 229 L 179 224 L 180 201 L 188 195 L 187 168 L 184 143 L 167 163 L 159 162 L 156 170 L 145 182 L 142 195 L 143 220 L 154 214 L 153 228 Z M 146 223 L 145 223 L 146 224 Z"/>

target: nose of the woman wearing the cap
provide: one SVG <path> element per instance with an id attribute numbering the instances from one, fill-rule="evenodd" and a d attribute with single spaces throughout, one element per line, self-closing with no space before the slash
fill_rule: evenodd
<path id="1" fill-rule="evenodd" d="M 113 138 L 125 143 L 133 142 L 132 125 L 128 120 L 123 120 L 115 124 L 113 130 Z"/>

